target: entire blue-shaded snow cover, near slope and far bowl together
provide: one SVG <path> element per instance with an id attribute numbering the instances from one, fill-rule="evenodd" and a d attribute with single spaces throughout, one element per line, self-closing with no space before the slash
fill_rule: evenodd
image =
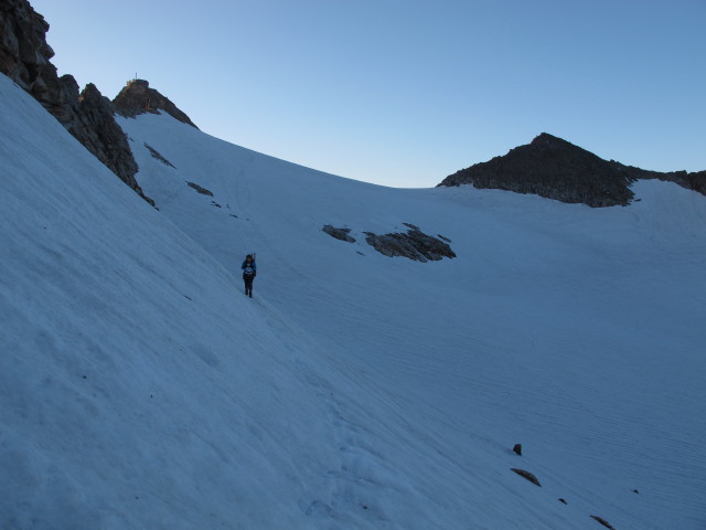
<path id="1" fill-rule="evenodd" d="M 703 197 L 393 190 L 120 119 L 158 212 L 0 105 L 3 530 L 704 528 Z M 365 244 L 405 222 L 458 257 Z"/>

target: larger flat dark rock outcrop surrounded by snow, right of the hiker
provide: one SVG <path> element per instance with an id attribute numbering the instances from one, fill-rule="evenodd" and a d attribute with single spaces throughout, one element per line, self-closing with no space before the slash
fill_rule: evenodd
<path id="1" fill-rule="evenodd" d="M 443 241 L 425 234 L 414 224 L 405 223 L 407 233 L 376 235 L 365 232 L 365 242 L 385 256 L 403 256 L 416 262 L 439 261 L 456 257 L 456 253 Z"/>

